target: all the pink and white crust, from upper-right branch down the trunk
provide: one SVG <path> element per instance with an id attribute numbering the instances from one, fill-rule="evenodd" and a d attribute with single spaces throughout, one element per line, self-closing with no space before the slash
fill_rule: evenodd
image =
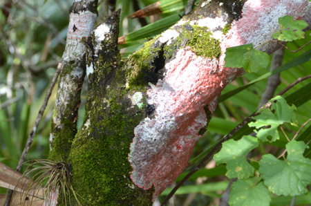
<path id="1" fill-rule="evenodd" d="M 309 5 L 308 0 L 249 0 L 243 18 L 234 21 L 220 40 L 219 62 L 197 57 L 187 48 L 178 51 L 176 58 L 165 65 L 164 78 L 151 85 L 147 93 L 148 103 L 156 106 L 154 118 L 145 118 L 134 130 L 129 162 L 135 185 L 154 187 L 156 197 L 187 167 L 200 138 L 198 131 L 207 123 L 204 107 L 209 105 L 214 111 L 223 88 L 243 74 L 242 68 L 223 67 L 226 48 L 264 44 L 279 30 L 279 17 L 303 17 Z M 276 47 L 270 43 L 258 49 L 271 53 Z"/>

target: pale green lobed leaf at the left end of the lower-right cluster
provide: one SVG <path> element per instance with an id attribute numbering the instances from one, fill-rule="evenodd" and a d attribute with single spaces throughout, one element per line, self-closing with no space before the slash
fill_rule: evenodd
<path id="1" fill-rule="evenodd" d="M 250 135 L 243 136 L 241 140 L 228 140 L 223 148 L 216 153 L 214 160 L 217 165 L 227 164 L 228 178 L 249 178 L 254 175 L 254 167 L 246 160 L 247 153 L 258 147 L 258 140 Z"/>

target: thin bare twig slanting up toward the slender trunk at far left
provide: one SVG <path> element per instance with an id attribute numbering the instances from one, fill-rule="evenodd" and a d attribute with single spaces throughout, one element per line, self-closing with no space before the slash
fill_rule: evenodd
<path id="1" fill-rule="evenodd" d="M 32 127 L 32 131 L 28 135 L 28 139 L 27 139 L 26 145 L 23 149 L 23 153 L 21 153 L 21 158 L 19 158 L 19 163 L 17 165 L 16 171 L 21 171 L 21 165 L 23 165 L 23 162 L 25 161 L 26 154 L 30 148 L 30 145 L 32 144 L 33 138 L 34 138 L 35 133 L 37 131 L 37 128 L 39 126 L 39 122 L 40 122 L 40 120 L 44 114 L 44 111 L 46 110 L 46 105 L 48 104 L 48 99 L 50 98 L 50 95 L 52 94 L 53 88 L 55 86 L 55 83 L 57 82 L 57 78 L 59 76 L 59 72 L 61 71 L 61 68 L 62 68 L 62 63 L 59 63 L 57 66 L 57 70 L 55 72 L 55 75 L 52 79 L 52 82 L 50 82 L 50 86 L 48 88 L 48 91 L 46 91 L 46 97 L 44 98 L 44 102 L 42 103 L 42 106 L 39 110 L 35 124 Z M 13 190 L 10 189 L 8 191 L 8 195 L 6 197 L 6 203 L 4 203 L 4 206 L 10 206 L 12 194 L 13 194 Z"/>

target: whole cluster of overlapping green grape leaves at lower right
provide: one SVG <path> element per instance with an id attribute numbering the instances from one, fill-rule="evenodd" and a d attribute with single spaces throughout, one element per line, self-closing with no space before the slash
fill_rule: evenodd
<path id="1" fill-rule="evenodd" d="M 258 171 L 247 162 L 247 154 L 261 142 L 269 142 L 268 136 L 272 136 L 270 141 L 279 140 L 277 127 L 285 122 L 296 124 L 294 105 L 289 106 L 281 96 L 270 100 L 270 104 L 258 111 L 254 117 L 256 122 L 249 123 L 249 127 L 256 127 L 257 138 L 244 135 L 240 140 L 228 140 L 214 156 L 217 165 L 226 164 L 228 178 L 238 178 L 231 188 L 230 205 L 270 205 L 270 192 L 278 196 L 308 193 L 311 160 L 303 156 L 309 148 L 303 141 L 288 142 L 284 160 L 272 154 L 263 155 L 258 162 Z"/>

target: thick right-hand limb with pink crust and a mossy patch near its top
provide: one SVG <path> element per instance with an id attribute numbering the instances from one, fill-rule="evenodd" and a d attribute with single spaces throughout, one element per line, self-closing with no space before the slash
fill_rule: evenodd
<path id="1" fill-rule="evenodd" d="M 292 15 L 300 19 L 309 12 L 305 8 L 310 7 L 303 0 L 249 0 L 244 6 L 243 2 L 236 1 L 228 9 L 227 1 L 202 1 L 189 15 L 191 19 L 181 19 L 132 57 L 134 65 L 138 65 L 133 66 L 134 71 L 140 70 L 135 74 L 149 71 L 149 76 L 156 73 L 160 77 L 147 91 L 147 104 L 154 106 L 153 117 L 135 127 L 129 153 L 133 182 L 144 189 L 154 187 L 153 198 L 187 166 L 200 138 L 198 132 L 207 124 L 205 107 L 212 113 L 223 88 L 243 75 L 242 68 L 224 67 L 226 48 L 263 44 L 258 49 L 271 53 L 279 45 L 265 43 L 279 30 L 279 17 Z M 234 5 L 240 9 L 243 6 L 243 11 Z M 227 24 L 231 24 L 229 30 Z M 140 57 L 145 55 L 149 61 L 144 59 L 142 64 Z M 129 75 L 128 81 L 138 82 L 136 77 L 140 75 Z"/>

